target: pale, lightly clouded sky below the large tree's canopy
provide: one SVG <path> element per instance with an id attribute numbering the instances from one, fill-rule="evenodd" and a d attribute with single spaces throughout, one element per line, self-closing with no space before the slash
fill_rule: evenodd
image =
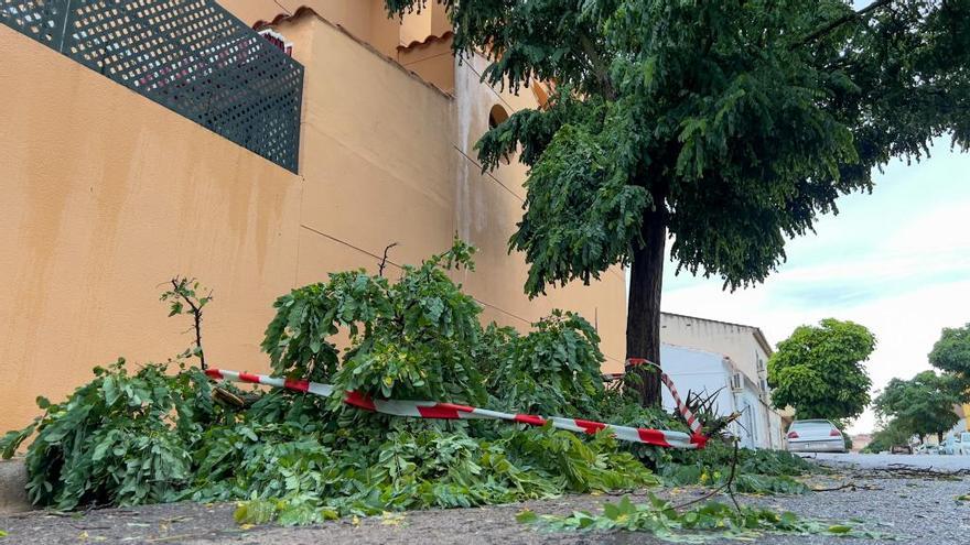
<path id="1" fill-rule="evenodd" d="M 874 390 L 928 369 L 940 329 L 970 323 L 970 154 L 947 139 L 875 181 L 871 195 L 840 198 L 816 235 L 791 240 L 787 262 L 756 287 L 724 292 L 719 279 L 675 276 L 668 263 L 664 310 L 758 326 L 773 346 L 798 325 L 851 319 L 879 341 L 866 362 Z M 873 425 L 866 411 L 850 430 Z"/>

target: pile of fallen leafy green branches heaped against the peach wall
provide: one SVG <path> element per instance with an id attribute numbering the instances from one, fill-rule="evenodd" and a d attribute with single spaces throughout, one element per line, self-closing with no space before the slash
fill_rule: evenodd
<path id="1" fill-rule="evenodd" d="M 262 341 L 273 373 L 375 397 L 602 412 L 595 330 L 560 312 L 527 335 L 483 328 L 481 307 L 449 275 L 473 266 L 473 253 L 456 242 L 396 282 L 344 272 L 280 297 Z M 342 330 L 344 351 L 333 341 Z M 182 357 L 197 355 L 201 347 Z M 36 430 L 26 453 L 31 500 L 60 509 L 244 500 L 242 522 L 312 523 L 658 483 L 605 435 L 398 418 L 348 407 L 341 395 L 281 390 L 228 410 L 213 403 L 204 374 L 180 366 L 129 374 L 119 361 L 63 404 L 41 400 L 45 415 L 0 440 L 12 455 Z"/>

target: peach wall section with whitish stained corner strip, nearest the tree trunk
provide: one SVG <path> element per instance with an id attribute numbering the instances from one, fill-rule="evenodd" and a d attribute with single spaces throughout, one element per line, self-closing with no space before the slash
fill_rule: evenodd
<path id="1" fill-rule="evenodd" d="M 538 102 L 529 89 L 515 95 L 483 84 L 479 74 L 486 64 L 485 59 L 474 57 L 455 68 L 455 228 L 462 238 L 482 248 L 479 272 L 494 271 L 470 277 L 465 285 L 472 293 L 481 294 L 485 303 L 499 306 L 504 313 L 495 315 L 504 314 L 505 323 L 510 325 L 535 321 L 553 307 L 581 313 L 597 325 L 601 348 L 607 358 L 604 370 L 619 372 L 625 359 L 626 331 L 626 281 L 621 268 L 611 268 L 602 274 L 601 282 L 590 286 L 572 283 L 564 288 L 551 288 L 548 297 L 532 301 L 522 295 L 528 265 L 521 254 L 508 255 L 507 242 L 521 219 L 527 168 L 513 157 L 508 164 L 482 173 L 474 145 L 488 130 L 488 112 L 495 105 L 511 115 L 522 108 L 535 108 Z M 508 280 L 495 283 L 492 274 Z M 518 290 L 509 288 L 508 284 Z"/>

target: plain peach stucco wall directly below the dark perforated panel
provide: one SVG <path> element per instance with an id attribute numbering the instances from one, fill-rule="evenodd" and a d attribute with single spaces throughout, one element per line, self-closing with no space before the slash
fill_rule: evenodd
<path id="1" fill-rule="evenodd" d="M 190 342 L 160 284 L 215 288 L 208 357 L 263 368 L 270 304 L 295 280 L 301 181 L 0 25 L 0 429 L 95 364 Z"/>

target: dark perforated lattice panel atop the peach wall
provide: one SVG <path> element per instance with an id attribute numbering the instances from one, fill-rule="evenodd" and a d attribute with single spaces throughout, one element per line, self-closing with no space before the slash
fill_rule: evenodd
<path id="1" fill-rule="evenodd" d="M 0 22 L 297 172 L 303 66 L 213 0 L 0 0 Z"/>

